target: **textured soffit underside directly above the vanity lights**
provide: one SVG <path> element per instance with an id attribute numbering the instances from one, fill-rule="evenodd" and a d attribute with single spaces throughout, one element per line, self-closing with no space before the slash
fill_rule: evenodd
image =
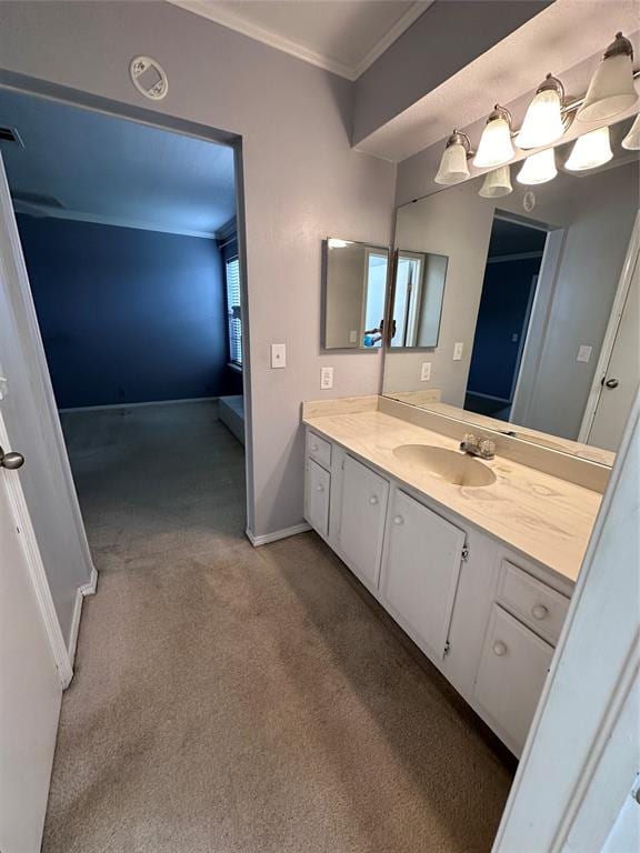
<path id="1" fill-rule="evenodd" d="M 637 0 L 556 0 L 357 148 L 400 162 L 486 117 L 494 103 L 510 104 L 549 71 L 562 77 L 589 57 L 593 71 L 618 30 L 637 33 L 638 10 Z"/>

